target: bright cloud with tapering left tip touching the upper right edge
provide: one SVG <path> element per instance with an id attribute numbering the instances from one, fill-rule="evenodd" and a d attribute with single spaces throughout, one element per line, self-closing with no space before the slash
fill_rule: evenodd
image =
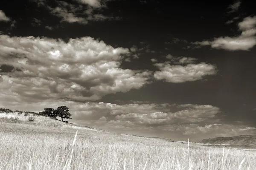
<path id="1" fill-rule="evenodd" d="M 246 17 L 238 24 L 242 31 L 237 37 L 218 37 L 214 40 L 205 40 L 193 42 L 194 45 L 211 45 L 212 48 L 225 49 L 229 51 L 244 50 L 247 51 L 256 45 L 256 16 Z"/>

